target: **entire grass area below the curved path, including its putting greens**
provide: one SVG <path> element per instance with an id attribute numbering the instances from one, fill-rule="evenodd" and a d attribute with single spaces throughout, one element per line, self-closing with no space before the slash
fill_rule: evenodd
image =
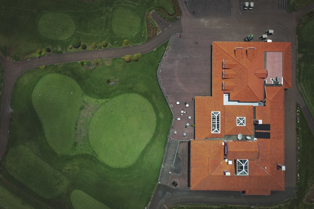
<path id="1" fill-rule="evenodd" d="M 100 60 L 94 70 L 71 62 L 20 75 L 0 186 L 33 208 L 148 206 L 172 120 L 157 80 L 166 47 L 138 62 Z"/>

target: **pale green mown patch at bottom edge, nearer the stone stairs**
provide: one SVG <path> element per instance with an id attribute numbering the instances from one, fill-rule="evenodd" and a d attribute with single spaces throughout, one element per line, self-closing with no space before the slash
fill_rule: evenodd
<path id="1" fill-rule="evenodd" d="M 73 190 L 71 193 L 71 202 L 75 209 L 110 209 L 81 190 Z"/>

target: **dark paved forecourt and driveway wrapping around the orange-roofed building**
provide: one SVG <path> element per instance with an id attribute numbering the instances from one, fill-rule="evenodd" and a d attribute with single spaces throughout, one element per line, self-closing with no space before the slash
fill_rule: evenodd
<path id="1" fill-rule="evenodd" d="M 179 4 L 182 10 L 183 36 L 174 37 L 160 68 L 161 84 L 170 104 L 173 105 L 176 117 L 181 110 L 181 106 L 175 104 L 176 101 L 181 104 L 185 101 L 190 103 L 193 96 L 210 95 L 210 45 L 213 41 L 243 41 L 249 34 L 255 36 L 252 41 L 260 41 L 259 35 L 273 29 L 274 34 L 270 39 L 275 42 L 291 42 L 292 88 L 285 91 L 286 191 L 274 191 L 271 196 L 261 197 L 241 196 L 239 192 L 232 191 L 189 191 L 158 185 L 150 208 L 165 208 L 180 203 L 264 205 L 288 199 L 296 186 L 295 13 L 279 10 L 277 1 L 271 0 L 258 1 L 252 10 L 245 11 L 240 6 L 241 1 L 230 3 L 228 0 L 189 0 L 188 4 L 191 10 L 195 10 L 195 15 L 189 12 L 185 3 L 179 1 Z M 195 41 L 198 44 L 195 44 Z M 184 127 L 184 124 L 185 121 L 175 120 L 174 130 Z M 191 129 L 187 130 L 194 133 Z M 181 132 L 178 136 L 174 136 L 172 132 L 171 137 L 186 139 Z"/>

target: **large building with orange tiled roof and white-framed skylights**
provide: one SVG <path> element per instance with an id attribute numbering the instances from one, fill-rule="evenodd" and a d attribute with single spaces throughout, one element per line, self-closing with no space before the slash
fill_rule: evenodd
<path id="1" fill-rule="evenodd" d="M 284 190 L 291 43 L 213 42 L 212 96 L 195 97 L 191 190 Z"/>

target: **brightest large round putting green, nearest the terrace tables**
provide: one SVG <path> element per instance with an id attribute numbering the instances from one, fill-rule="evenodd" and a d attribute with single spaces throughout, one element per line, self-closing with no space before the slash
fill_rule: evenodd
<path id="1" fill-rule="evenodd" d="M 135 163 L 151 140 L 156 115 L 138 94 L 122 94 L 100 107 L 89 126 L 89 140 L 101 161 L 114 168 Z"/>

